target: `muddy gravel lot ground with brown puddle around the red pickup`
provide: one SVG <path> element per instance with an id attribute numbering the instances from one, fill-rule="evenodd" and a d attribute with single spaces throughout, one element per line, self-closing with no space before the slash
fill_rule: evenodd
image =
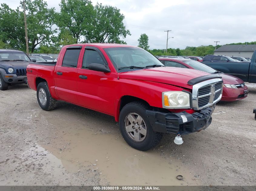
<path id="1" fill-rule="evenodd" d="M 24 84 L 0 91 L 0 185 L 256 185 L 256 86 L 218 103 L 211 126 L 164 135 L 142 152 L 111 116 L 59 102 L 42 110 Z M 176 176 L 182 175 L 183 180 Z"/>

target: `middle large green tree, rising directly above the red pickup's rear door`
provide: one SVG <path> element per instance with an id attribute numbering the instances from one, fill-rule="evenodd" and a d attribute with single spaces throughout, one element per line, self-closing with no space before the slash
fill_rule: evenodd
<path id="1" fill-rule="evenodd" d="M 56 24 L 60 30 L 68 29 L 76 39 L 91 34 L 95 18 L 94 7 L 89 0 L 61 0 L 60 13 L 56 16 Z"/>

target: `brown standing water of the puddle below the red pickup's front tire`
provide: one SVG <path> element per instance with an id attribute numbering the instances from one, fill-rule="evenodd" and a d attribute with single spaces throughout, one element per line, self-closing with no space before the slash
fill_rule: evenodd
<path id="1" fill-rule="evenodd" d="M 62 151 L 56 148 L 57 145 Z M 43 147 L 61 159 L 68 171 L 77 172 L 81 166 L 91 165 L 92 170 L 102 173 L 102 183 L 107 181 L 110 185 L 194 183 L 192 175 L 177 161 L 172 160 L 171 164 L 168 164 L 169 161 L 162 158 L 159 153 L 138 151 L 114 135 L 95 134 L 87 129 L 73 129 L 65 135 L 59 135 L 55 145 Z M 180 174 L 185 177 L 184 181 L 176 179 Z"/>

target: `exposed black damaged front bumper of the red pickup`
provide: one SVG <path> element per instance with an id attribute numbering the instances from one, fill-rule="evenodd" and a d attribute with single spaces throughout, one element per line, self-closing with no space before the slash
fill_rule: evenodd
<path id="1" fill-rule="evenodd" d="M 181 135 L 206 129 L 211 124 L 211 114 L 215 106 L 207 107 L 195 113 L 161 113 L 147 110 L 147 116 L 155 132 L 174 133 Z"/>

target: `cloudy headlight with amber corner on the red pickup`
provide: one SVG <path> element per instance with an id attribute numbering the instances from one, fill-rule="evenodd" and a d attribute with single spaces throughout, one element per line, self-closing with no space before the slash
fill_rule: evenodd
<path id="1" fill-rule="evenodd" d="M 183 91 L 165 91 L 162 93 L 163 108 L 180 109 L 190 108 L 190 97 Z"/>

